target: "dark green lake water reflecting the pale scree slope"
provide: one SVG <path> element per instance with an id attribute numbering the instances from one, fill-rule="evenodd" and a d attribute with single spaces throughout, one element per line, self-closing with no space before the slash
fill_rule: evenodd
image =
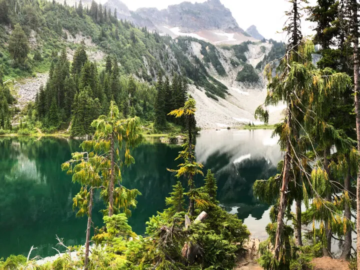
<path id="1" fill-rule="evenodd" d="M 275 173 L 282 154 L 272 130 L 203 130 L 196 138 L 196 158 L 210 168 L 218 184 L 217 199 L 229 212 L 236 213 L 253 237 L 265 239 L 269 222 L 268 205 L 254 199 L 252 184 Z M 55 235 L 66 245 L 85 241 L 86 218 L 76 218 L 72 197 L 79 185 L 61 171 L 60 164 L 79 150 L 80 141 L 63 138 L 0 137 L 0 257 L 31 253 L 44 257 L 56 251 Z M 145 221 L 165 207 L 164 199 L 176 182 L 173 159 L 181 148 L 177 145 L 143 143 L 133 150 L 136 163 L 123 171 L 123 185 L 137 188 L 137 208 L 129 224 L 142 234 Z M 202 177 L 196 179 L 203 183 Z M 186 181 L 182 179 L 185 186 Z M 93 221 L 102 224 L 95 201 Z"/>

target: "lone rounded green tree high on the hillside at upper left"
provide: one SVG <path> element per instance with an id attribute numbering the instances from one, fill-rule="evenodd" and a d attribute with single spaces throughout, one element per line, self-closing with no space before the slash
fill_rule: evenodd
<path id="1" fill-rule="evenodd" d="M 20 24 L 16 24 L 9 41 L 8 51 L 15 64 L 23 64 L 29 51 L 28 40 Z"/>

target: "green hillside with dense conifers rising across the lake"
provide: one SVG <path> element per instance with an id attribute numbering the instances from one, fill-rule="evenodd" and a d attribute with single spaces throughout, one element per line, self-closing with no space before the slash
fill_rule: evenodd
<path id="1" fill-rule="evenodd" d="M 146 27 L 118 20 L 116 10 L 95 1 L 83 7 L 81 3 L 68 6 L 66 2 L 46 0 L 0 0 L 0 6 L 0 64 L 5 84 L 11 88 L 16 78 L 49 70 L 47 83 L 37 90 L 35 104 L 30 102 L 19 112 L 19 106 L 11 105 L 14 100 L 7 98 L 9 106 L 3 109 L 3 122 L 10 122 L 15 116 L 12 122 L 24 129 L 23 133 L 33 127 L 47 132 L 66 129 L 76 114 L 83 115 L 83 128 L 74 131 L 72 126 L 71 134 L 87 134 L 91 132 L 91 120 L 106 112 L 110 100 L 116 101 L 123 116 L 156 120 L 156 130 L 166 130 L 163 119 L 184 102 L 188 83 L 214 100 L 225 98 L 228 87 L 219 80 L 235 79 L 228 73 L 229 68 L 243 68 L 238 80 L 257 83 L 258 74 L 271 57 L 272 49 L 267 51 L 266 59 L 262 55 L 263 63 L 258 63 L 254 71 L 245 56 L 252 42 L 219 48 L 191 37 L 160 36 Z M 271 42 L 274 41 L 268 44 Z M 191 48 L 197 43 L 200 53 Z M 265 50 L 263 46 L 264 53 Z M 164 100 L 170 105 L 156 104 Z M 87 107 L 78 108 L 79 102 Z M 8 130 L 11 126 L 1 124 L 1 128 Z"/>

